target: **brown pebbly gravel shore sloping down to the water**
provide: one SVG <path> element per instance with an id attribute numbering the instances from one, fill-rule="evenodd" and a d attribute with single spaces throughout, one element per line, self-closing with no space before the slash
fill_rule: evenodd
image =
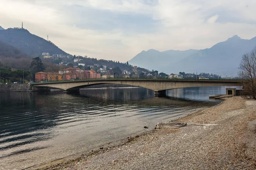
<path id="1" fill-rule="evenodd" d="M 155 130 L 41 170 L 256 169 L 256 101 L 224 99 Z"/>

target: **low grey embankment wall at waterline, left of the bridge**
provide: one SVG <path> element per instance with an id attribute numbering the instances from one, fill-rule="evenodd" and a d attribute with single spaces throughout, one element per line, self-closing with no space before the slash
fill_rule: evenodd
<path id="1" fill-rule="evenodd" d="M 0 85 L 0 92 L 10 92 L 10 91 L 31 91 L 31 85 L 29 84 L 7 84 Z"/>

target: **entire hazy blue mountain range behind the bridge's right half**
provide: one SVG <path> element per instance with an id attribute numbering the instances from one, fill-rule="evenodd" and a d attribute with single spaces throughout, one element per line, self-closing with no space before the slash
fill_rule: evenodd
<path id="1" fill-rule="evenodd" d="M 128 61 L 131 65 L 171 73 L 214 73 L 236 76 L 241 56 L 256 46 L 256 37 L 244 40 L 237 35 L 204 50 L 142 51 Z"/>

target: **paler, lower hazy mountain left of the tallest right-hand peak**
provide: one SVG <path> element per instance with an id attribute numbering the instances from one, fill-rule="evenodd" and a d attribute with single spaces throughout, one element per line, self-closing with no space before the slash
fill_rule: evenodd
<path id="1" fill-rule="evenodd" d="M 167 67 L 170 63 L 176 63 L 180 60 L 195 54 L 198 50 L 186 50 L 186 51 L 157 51 L 154 49 L 150 49 L 148 51 L 141 51 L 134 58 L 132 58 L 129 62 L 131 65 L 137 65 L 141 68 L 148 68 L 149 70 L 157 70 L 156 63 L 160 64 L 160 67 Z M 158 69 L 159 70 L 159 69 Z"/>

